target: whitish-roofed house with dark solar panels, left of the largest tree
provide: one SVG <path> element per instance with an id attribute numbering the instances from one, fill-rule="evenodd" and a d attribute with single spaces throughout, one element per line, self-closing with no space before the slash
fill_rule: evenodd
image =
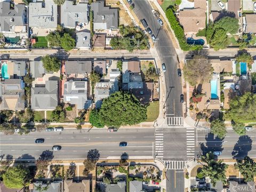
<path id="1" fill-rule="evenodd" d="M 69 80 L 64 84 L 64 102 L 76 105 L 77 109 L 87 109 L 91 100 L 87 100 L 87 81 Z"/>

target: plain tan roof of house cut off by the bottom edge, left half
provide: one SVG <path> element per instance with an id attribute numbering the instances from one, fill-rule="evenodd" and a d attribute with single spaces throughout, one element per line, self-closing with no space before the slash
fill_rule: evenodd
<path id="1" fill-rule="evenodd" d="M 73 180 L 64 180 L 65 192 L 90 192 L 90 180 L 83 179 L 82 182 L 73 182 Z"/>

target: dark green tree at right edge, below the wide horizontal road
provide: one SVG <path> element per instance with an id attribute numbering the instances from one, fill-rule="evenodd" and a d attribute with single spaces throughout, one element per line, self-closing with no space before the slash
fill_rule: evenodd
<path id="1" fill-rule="evenodd" d="M 242 173 L 246 182 L 253 181 L 253 178 L 256 176 L 256 162 L 250 157 L 238 159 L 235 164 L 235 169 L 238 169 Z"/>

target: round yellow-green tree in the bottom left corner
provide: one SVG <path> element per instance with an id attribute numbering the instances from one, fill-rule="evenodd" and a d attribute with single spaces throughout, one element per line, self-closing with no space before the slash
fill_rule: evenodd
<path id="1" fill-rule="evenodd" d="M 30 182 L 29 178 L 29 169 L 21 165 L 9 167 L 3 174 L 4 185 L 7 188 L 13 189 L 20 189 L 28 186 Z"/>

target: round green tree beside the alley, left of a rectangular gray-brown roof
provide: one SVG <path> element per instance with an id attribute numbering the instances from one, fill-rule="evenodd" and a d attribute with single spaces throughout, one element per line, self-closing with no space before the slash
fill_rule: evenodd
<path id="1" fill-rule="evenodd" d="M 47 71 L 57 72 L 60 70 L 60 60 L 57 57 L 45 55 L 42 57 L 43 66 Z"/>

